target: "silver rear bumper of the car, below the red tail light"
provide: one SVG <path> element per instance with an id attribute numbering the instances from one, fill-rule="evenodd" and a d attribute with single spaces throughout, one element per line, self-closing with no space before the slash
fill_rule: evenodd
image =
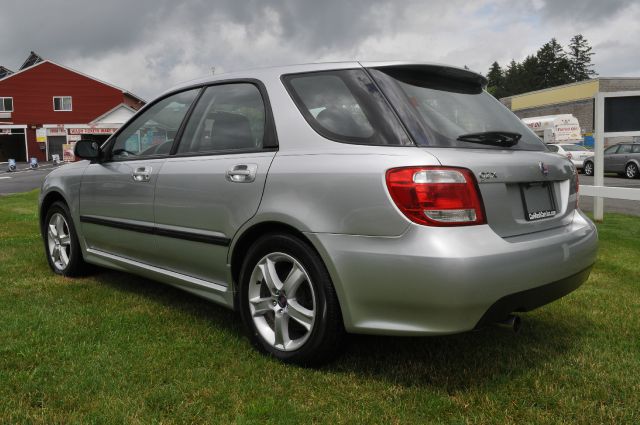
<path id="1" fill-rule="evenodd" d="M 486 225 L 308 236 L 327 264 L 346 329 L 388 335 L 464 332 L 551 302 L 588 278 L 598 239 L 580 211 L 570 225 L 514 238 Z"/>

